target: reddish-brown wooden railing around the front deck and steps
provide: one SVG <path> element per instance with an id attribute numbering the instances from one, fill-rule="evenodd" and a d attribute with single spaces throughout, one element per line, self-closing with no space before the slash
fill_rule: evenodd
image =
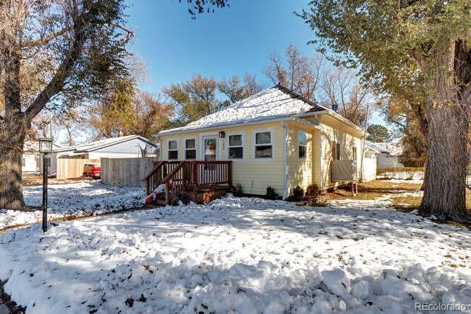
<path id="1" fill-rule="evenodd" d="M 187 187 L 232 186 L 232 161 L 158 161 L 142 179 L 149 195 L 165 185 L 165 204 Z"/>

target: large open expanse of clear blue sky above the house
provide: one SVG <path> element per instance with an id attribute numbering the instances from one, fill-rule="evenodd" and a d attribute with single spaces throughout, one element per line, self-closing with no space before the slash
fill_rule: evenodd
<path id="1" fill-rule="evenodd" d="M 129 27 L 136 32 L 132 51 L 147 64 L 149 82 L 157 93 L 192 74 L 216 79 L 244 71 L 265 80 L 262 69 L 272 52 L 283 54 L 296 45 L 306 54 L 313 32 L 293 11 L 307 8 L 307 0 L 233 0 L 230 8 L 190 18 L 185 0 L 128 0 Z M 268 83 L 268 81 L 267 81 Z"/>

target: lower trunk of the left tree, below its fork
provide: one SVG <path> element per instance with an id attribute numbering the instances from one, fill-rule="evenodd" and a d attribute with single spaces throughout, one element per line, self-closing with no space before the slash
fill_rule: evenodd
<path id="1" fill-rule="evenodd" d="M 25 209 L 21 166 L 25 127 L 5 123 L 0 134 L 0 209 Z"/>

